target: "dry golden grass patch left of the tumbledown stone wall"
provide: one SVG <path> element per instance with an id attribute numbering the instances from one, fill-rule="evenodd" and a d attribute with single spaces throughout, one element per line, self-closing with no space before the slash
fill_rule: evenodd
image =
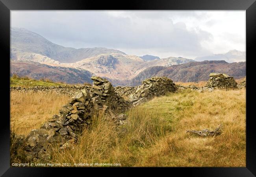
<path id="1" fill-rule="evenodd" d="M 10 92 L 10 125 L 18 135 L 27 135 L 58 113 L 69 97 L 49 93 Z"/>

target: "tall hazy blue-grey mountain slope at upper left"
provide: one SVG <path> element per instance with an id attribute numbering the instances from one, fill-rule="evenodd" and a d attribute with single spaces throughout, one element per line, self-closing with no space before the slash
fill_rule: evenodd
<path id="1" fill-rule="evenodd" d="M 11 28 L 11 59 L 41 61 L 43 58 L 61 63 L 74 63 L 99 54 L 124 52 L 108 48 L 70 48 L 54 44 L 41 35 L 23 28 Z"/>

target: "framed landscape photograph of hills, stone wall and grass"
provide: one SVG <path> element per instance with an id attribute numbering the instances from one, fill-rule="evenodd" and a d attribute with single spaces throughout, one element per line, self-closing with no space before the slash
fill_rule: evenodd
<path id="1" fill-rule="evenodd" d="M 246 167 L 246 11 L 10 21 L 11 167 Z"/>

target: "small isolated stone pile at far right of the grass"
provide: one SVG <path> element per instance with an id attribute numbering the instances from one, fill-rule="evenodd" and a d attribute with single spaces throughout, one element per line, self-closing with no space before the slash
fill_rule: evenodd
<path id="1" fill-rule="evenodd" d="M 237 83 L 234 77 L 230 77 L 222 73 L 210 73 L 210 79 L 206 84 L 206 87 L 217 88 L 217 89 L 236 89 Z"/>

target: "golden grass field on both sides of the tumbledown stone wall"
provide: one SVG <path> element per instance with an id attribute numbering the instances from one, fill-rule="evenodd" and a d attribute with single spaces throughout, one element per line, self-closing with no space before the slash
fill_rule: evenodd
<path id="1" fill-rule="evenodd" d="M 27 134 L 39 128 L 67 100 L 54 93 L 11 93 L 11 129 Z M 74 149 L 56 149 L 50 162 L 245 167 L 245 108 L 245 89 L 169 93 L 126 112 L 130 123 L 121 127 L 108 115 L 95 115 Z M 220 124 L 219 136 L 186 133 Z"/>

